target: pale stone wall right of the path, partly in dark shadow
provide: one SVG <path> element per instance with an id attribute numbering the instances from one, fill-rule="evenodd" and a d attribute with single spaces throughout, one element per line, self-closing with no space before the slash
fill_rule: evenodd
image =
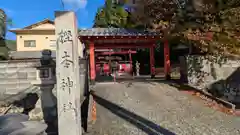
<path id="1" fill-rule="evenodd" d="M 187 56 L 189 85 L 216 97 L 240 103 L 240 60 Z"/>

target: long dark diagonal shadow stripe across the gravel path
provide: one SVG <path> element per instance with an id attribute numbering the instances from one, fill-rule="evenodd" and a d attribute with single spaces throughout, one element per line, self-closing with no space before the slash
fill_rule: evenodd
<path id="1" fill-rule="evenodd" d="M 129 123 L 133 124 L 137 128 L 141 129 L 143 132 L 149 134 L 149 135 L 175 135 L 175 133 L 162 128 L 161 126 L 141 117 L 138 116 L 114 103 L 111 103 L 110 101 L 103 99 L 96 94 L 92 93 L 92 96 L 96 103 L 103 106 L 104 108 L 108 109 L 113 114 L 119 116 L 120 118 L 128 121 Z"/>

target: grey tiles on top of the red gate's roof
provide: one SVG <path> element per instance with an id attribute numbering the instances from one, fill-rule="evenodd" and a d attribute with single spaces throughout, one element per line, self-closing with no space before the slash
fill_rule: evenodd
<path id="1" fill-rule="evenodd" d="M 90 28 L 80 29 L 79 36 L 161 36 L 162 32 L 125 28 Z"/>

